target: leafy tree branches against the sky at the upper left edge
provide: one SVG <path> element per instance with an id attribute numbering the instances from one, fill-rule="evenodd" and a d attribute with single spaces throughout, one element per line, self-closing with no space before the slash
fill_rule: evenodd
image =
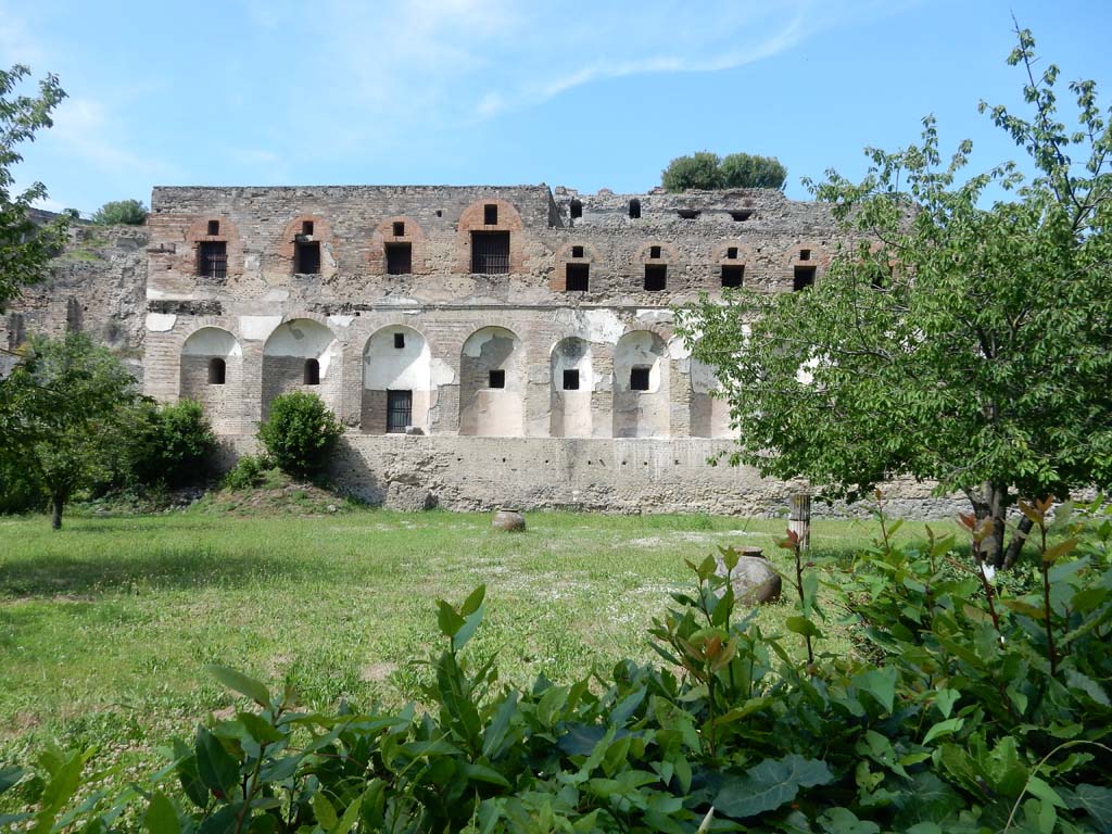
<path id="1" fill-rule="evenodd" d="M 31 203 L 47 196 L 41 182 L 13 193 L 12 168 L 22 160 L 18 147 L 33 141 L 34 133 L 51 127 L 50 112 L 66 98 L 54 76 L 39 82 L 37 97 L 16 93 L 30 75 L 23 64 L 0 70 L 0 310 L 19 295 L 20 287 L 41 280 L 47 264 L 66 239 L 68 218 L 37 226 L 30 217 Z"/>

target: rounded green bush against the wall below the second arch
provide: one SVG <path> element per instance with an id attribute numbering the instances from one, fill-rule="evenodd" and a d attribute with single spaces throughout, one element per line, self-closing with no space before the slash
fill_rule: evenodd
<path id="1" fill-rule="evenodd" d="M 259 441 L 282 471 L 312 477 L 325 470 L 344 427 L 316 394 L 292 391 L 270 403 Z"/>

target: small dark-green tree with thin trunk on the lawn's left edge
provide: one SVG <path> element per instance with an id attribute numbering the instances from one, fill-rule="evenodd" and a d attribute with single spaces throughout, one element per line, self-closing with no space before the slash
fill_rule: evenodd
<path id="1" fill-rule="evenodd" d="M 137 397 L 127 368 L 85 334 L 32 336 L 24 346 L 2 386 L 0 415 L 11 433 L 0 455 L 18 456 L 33 471 L 50 497 L 54 529 L 76 492 L 110 475 Z"/>

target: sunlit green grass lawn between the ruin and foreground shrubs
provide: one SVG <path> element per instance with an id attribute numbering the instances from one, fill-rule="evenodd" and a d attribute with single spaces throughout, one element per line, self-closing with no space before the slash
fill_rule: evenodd
<path id="1" fill-rule="evenodd" d="M 0 763 L 57 739 L 148 772 L 157 745 L 234 703 L 207 663 L 288 682 L 307 706 L 417 698 L 426 671 L 415 662 L 440 649 L 435 600 L 483 583 L 487 618 L 468 652 L 496 652 L 515 683 L 568 682 L 651 656 L 646 628 L 688 585 L 684 557 L 755 544 L 787 564 L 773 545 L 783 520 L 536 513 L 528 523 L 505 534 L 489 515 L 195 508 L 75 516 L 53 533 L 44 517 L 0 518 Z M 848 554 L 874 532 L 817 522 L 812 544 Z M 783 606 L 761 614 L 770 632 L 784 616 Z"/>

